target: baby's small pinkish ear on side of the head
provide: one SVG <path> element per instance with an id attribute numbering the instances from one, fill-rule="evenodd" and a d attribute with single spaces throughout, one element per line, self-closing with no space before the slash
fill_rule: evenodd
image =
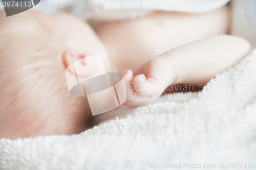
<path id="1" fill-rule="evenodd" d="M 62 60 L 66 68 L 73 64 L 75 72 L 73 69 L 68 69 L 72 74 L 76 74 L 77 77 L 88 77 L 94 72 L 95 67 L 94 64 L 90 62 L 90 57 L 86 57 L 86 54 L 68 48 L 63 52 Z"/>

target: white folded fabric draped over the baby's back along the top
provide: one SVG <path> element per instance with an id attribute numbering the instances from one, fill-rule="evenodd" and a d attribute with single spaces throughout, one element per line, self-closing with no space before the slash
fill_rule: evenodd
<path id="1" fill-rule="evenodd" d="M 230 0 L 78 0 L 73 13 L 82 19 L 134 19 L 156 10 L 201 13 L 217 9 Z"/>

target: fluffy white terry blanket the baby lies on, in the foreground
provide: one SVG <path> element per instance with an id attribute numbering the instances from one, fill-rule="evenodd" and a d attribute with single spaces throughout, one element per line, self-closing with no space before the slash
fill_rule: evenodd
<path id="1" fill-rule="evenodd" d="M 140 107 L 80 135 L 1 139 L 0 168 L 250 169 L 255 153 L 256 48 L 188 103 Z"/>

